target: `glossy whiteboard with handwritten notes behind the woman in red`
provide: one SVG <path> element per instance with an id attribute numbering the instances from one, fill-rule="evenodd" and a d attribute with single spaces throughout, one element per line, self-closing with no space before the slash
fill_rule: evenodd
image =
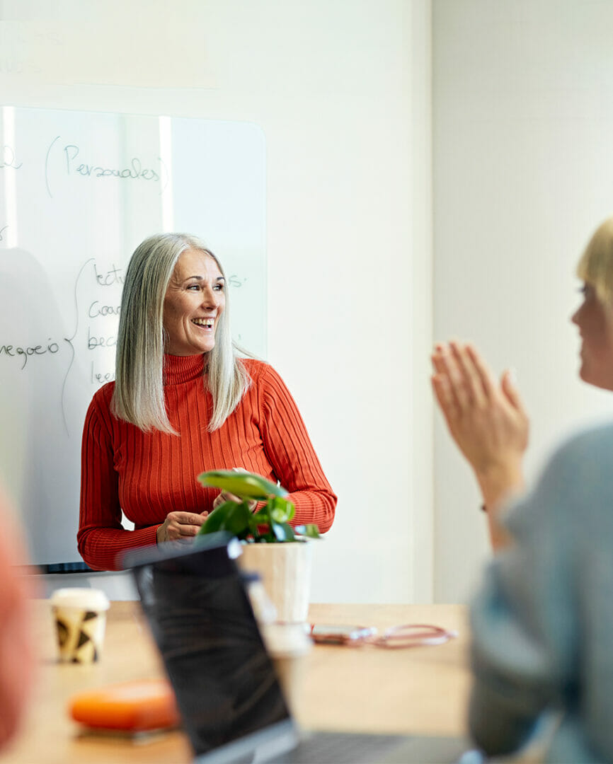
<path id="1" fill-rule="evenodd" d="M 198 235 L 228 279 L 235 339 L 266 356 L 265 144 L 257 125 L 2 108 L 0 479 L 31 561 L 80 561 L 80 444 L 114 378 L 137 244 Z"/>

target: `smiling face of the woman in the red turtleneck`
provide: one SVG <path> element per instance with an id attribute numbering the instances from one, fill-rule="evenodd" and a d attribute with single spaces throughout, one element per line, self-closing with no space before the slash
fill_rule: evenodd
<path id="1" fill-rule="evenodd" d="M 180 254 L 164 296 L 167 353 L 196 355 L 215 347 L 224 290 L 224 277 L 209 254 L 196 249 Z"/>

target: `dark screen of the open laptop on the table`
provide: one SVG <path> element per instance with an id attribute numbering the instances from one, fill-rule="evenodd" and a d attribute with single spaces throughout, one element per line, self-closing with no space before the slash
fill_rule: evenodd
<path id="1" fill-rule="evenodd" d="M 227 539 L 207 544 L 128 560 L 199 755 L 290 719 Z"/>

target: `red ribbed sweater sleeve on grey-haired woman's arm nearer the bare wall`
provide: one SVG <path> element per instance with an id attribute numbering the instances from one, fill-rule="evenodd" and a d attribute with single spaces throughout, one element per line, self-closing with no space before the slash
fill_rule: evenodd
<path id="1" fill-rule="evenodd" d="M 264 450 L 281 485 L 290 492 L 296 514 L 292 525 L 332 526 L 336 495 L 323 474 L 298 407 L 284 381 L 265 367 L 259 395 Z"/>

